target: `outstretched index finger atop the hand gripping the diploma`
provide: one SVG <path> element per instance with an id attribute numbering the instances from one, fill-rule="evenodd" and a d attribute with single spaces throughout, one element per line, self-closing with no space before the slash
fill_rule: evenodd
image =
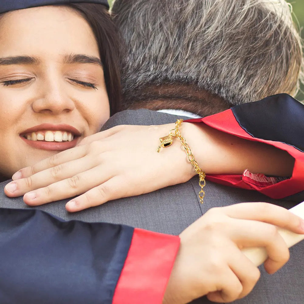
<path id="1" fill-rule="evenodd" d="M 269 203 L 240 203 L 223 207 L 222 211 L 232 218 L 261 221 L 295 233 L 304 233 L 302 218 L 283 207 Z"/>

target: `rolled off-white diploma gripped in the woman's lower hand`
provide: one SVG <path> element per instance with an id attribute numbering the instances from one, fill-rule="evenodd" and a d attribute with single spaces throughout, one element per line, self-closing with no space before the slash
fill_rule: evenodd
<path id="1" fill-rule="evenodd" d="M 304 219 L 304 202 L 289 209 L 295 215 Z M 285 240 L 288 248 L 304 240 L 304 234 L 297 234 L 286 229 L 278 229 L 282 238 Z M 242 252 L 256 265 L 259 266 L 266 261 L 268 255 L 264 247 L 248 247 L 242 249 Z"/>

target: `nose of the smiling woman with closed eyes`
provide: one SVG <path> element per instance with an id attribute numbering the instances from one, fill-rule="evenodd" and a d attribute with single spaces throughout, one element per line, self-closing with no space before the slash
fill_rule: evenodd
<path id="1" fill-rule="evenodd" d="M 60 80 L 49 79 L 39 89 L 39 98 L 32 103 L 34 112 L 58 115 L 75 109 L 73 100 L 64 90 Z"/>

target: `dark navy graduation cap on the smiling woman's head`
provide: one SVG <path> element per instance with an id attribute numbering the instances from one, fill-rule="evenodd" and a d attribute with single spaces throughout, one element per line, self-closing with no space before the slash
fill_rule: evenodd
<path id="1" fill-rule="evenodd" d="M 68 3 L 98 3 L 105 5 L 109 9 L 107 0 L 0 0 L 0 14 L 16 9 Z"/>

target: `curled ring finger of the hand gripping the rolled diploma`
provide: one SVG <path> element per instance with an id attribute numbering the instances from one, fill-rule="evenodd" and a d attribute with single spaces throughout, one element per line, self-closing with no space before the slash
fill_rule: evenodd
<path id="1" fill-rule="evenodd" d="M 259 269 L 240 251 L 235 244 L 232 245 L 235 247 L 233 249 L 233 254 L 229 256 L 229 267 L 235 273 L 237 278 L 240 280 L 243 290 L 239 295 L 239 299 L 248 295 L 258 279 L 260 278 Z"/>

